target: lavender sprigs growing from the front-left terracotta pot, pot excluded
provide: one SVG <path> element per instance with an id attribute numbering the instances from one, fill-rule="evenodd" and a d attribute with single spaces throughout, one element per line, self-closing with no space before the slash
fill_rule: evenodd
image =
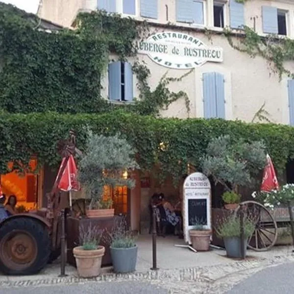
<path id="1" fill-rule="evenodd" d="M 80 225 L 79 227 L 79 245 L 84 250 L 96 250 L 99 246 L 104 230 L 98 226 L 92 227 L 92 222 L 88 227 Z"/>

